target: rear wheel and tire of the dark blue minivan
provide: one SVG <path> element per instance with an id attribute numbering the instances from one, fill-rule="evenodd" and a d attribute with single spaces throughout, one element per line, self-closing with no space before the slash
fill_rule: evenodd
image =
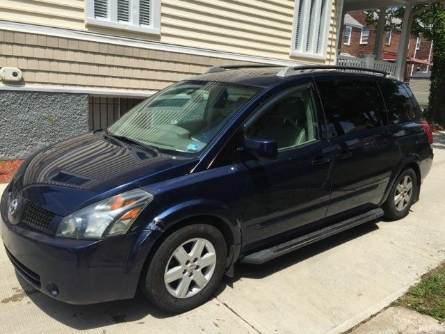
<path id="1" fill-rule="evenodd" d="M 412 168 L 403 170 L 394 182 L 385 204 L 382 205 L 385 218 L 396 221 L 407 216 L 417 191 L 416 172 Z"/>

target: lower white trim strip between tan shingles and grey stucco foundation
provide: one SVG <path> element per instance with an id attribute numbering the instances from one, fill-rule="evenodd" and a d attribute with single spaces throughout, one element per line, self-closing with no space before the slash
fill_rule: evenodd
<path id="1" fill-rule="evenodd" d="M 69 86 L 31 86 L 31 85 L 7 85 L 0 84 L 1 90 L 13 90 L 17 92 L 42 92 L 42 93 L 71 93 L 71 94 L 88 94 L 88 95 L 104 95 L 104 96 L 120 96 L 120 97 L 150 97 L 156 91 L 154 90 L 112 90 L 100 88 L 81 88 Z"/>

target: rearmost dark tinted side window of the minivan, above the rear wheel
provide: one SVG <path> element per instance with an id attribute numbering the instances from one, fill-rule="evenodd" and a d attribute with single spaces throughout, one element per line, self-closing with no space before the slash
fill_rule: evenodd
<path id="1" fill-rule="evenodd" d="M 419 118 L 419 104 L 414 104 L 411 90 L 391 81 L 381 82 L 380 88 L 385 98 L 390 124 L 411 122 Z"/>

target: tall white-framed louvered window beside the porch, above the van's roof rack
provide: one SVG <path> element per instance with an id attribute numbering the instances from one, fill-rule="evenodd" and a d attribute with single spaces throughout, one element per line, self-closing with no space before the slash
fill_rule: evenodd
<path id="1" fill-rule="evenodd" d="M 332 0 L 295 1 L 292 54 L 325 54 L 331 6 Z"/>

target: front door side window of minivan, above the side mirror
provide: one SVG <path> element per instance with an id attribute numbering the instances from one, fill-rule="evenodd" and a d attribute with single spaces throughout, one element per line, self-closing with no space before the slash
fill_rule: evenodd
<path id="1" fill-rule="evenodd" d="M 250 138 L 267 138 L 283 150 L 318 139 L 316 109 L 309 88 L 283 97 L 248 129 Z"/>

